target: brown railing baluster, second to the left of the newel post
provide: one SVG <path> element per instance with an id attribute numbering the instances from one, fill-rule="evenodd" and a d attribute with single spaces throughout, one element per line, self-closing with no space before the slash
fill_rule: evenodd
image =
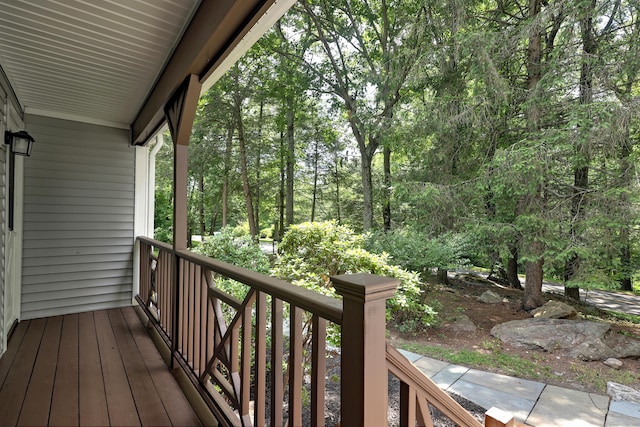
<path id="1" fill-rule="evenodd" d="M 302 310 L 289 308 L 289 427 L 302 425 Z"/>

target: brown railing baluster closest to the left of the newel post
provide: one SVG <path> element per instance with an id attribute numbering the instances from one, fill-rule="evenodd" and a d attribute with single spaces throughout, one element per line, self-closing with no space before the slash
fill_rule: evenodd
<path id="1" fill-rule="evenodd" d="M 327 321 L 314 315 L 311 327 L 311 425 L 324 427 Z"/>

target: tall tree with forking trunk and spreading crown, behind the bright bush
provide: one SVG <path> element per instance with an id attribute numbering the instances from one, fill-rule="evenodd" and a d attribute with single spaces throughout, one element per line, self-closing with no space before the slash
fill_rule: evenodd
<path id="1" fill-rule="evenodd" d="M 315 54 L 300 59 L 317 86 L 340 100 L 357 142 L 363 228 L 369 230 L 374 223 L 373 157 L 384 144 L 407 76 L 425 43 L 423 7 L 412 1 L 305 0 L 295 10 L 302 14 L 298 25 L 316 47 Z M 390 154 L 389 149 L 386 156 Z"/>

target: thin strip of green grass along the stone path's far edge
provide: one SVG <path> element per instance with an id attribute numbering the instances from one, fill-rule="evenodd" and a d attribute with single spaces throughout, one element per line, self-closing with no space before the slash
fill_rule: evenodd
<path id="1" fill-rule="evenodd" d="M 430 346 L 422 343 L 402 343 L 403 350 L 422 354 L 434 359 L 445 360 L 456 365 L 472 366 L 479 369 L 500 370 L 506 375 L 531 379 L 558 378 L 551 372 L 551 367 L 538 362 L 524 360 L 517 356 L 511 356 L 500 350 L 500 344 L 495 341 L 485 341 L 477 351 L 450 350 L 438 346 Z"/>

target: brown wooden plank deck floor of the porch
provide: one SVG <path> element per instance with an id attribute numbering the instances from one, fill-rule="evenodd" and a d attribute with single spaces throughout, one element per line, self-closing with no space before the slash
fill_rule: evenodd
<path id="1" fill-rule="evenodd" d="M 199 424 L 132 307 L 23 321 L 0 359 L 0 426 Z"/>

